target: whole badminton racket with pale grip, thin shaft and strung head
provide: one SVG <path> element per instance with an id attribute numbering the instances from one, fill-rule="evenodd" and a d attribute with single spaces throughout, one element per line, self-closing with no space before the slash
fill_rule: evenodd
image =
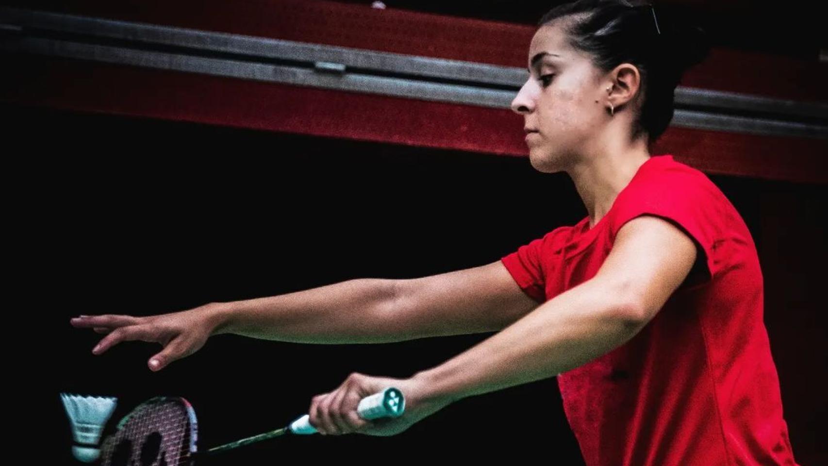
<path id="1" fill-rule="evenodd" d="M 366 396 L 357 413 L 365 420 L 402 416 L 405 398 L 397 388 Z M 316 430 L 310 416 L 301 416 L 282 429 L 271 430 L 229 444 L 196 452 L 198 423 L 195 410 L 184 398 L 159 396 L 144 401 L 118 423 L 101 448 L 102 466 L 184 466 L 196 459 L 237 449 L 281 435 L 310 435 Z"/>

